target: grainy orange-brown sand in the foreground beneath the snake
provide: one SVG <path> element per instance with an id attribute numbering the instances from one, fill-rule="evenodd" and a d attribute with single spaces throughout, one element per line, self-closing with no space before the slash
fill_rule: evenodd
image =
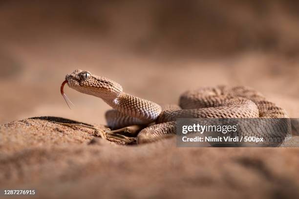
<path id="1" fill-rule="evenodd" d="M 0 187 L 32 188 L 39 198 L 299 195 L 298 148 L 178 148 L 174 138 L 124 146 L 53 120 L 71 122 L 0 126 Z"/>

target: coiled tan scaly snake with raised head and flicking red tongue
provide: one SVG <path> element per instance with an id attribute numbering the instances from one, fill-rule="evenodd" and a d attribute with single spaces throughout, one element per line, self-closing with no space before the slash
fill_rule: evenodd
<path id="1" fill-rule="evenodd" d="M 65 76 L 61 93 L 67 102 L 68 99 L 64 94 L 65 84 L 80 93 L 100 98 L 112 107 L 105 114 L 110 129 L 141 126 L 136 136 L 138 144 L 176 134 L 176 119 L 179 118 L 289 118 L 283 108 L 266 100 L 255 89 L 246 86 L 200 87 L 181 94 L 178 105 L 159 105 L 153 101 L 127 94 L 123 92 L 119 83 L 94 75 L 89 71 L 75 70 Z M 287 130 L 290 126 L 287 120 L 283 120 L 280 125 Z M 285 133 L 278 135 L 277 130 L 273 129 L 262 133 L 264 134 L 262 136 L 266 138 L 284 139 L 286 136 Z M 243 129 L 238 134 L 252 135 L 252 132 Z"/>

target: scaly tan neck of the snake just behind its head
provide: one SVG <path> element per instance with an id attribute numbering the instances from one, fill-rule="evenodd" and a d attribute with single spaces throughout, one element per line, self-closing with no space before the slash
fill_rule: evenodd
<path id="1" fill-rule="evenodd" d="M 162 109 L 161 106 L 132 95 L 122 93 L 115 99 L 103 99 L 112 108 L 119 112 L 144 121 L 152 122 L 157 119 Z"/>

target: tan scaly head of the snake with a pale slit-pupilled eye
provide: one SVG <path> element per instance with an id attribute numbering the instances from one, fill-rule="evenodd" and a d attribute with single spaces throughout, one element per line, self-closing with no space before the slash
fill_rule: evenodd
<path id="1" fill-rule="evenodd" d="M 123 88 L 119 83 L 93 75 L 89 71 L 75 70 L 67 74 L 65 80 L 67 80 L 70 88 L 103 100 L 113 100 L 123 92 Z"/>

